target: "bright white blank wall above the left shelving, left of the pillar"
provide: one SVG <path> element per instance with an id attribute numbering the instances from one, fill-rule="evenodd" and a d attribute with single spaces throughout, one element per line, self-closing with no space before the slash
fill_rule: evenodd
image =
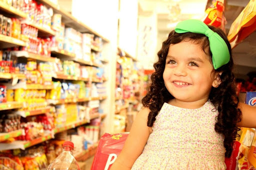
<path id="1" fill-rule="evenodd" d="M 72 15 L 116 42 L 118 0 L 72 0 Z"/>

